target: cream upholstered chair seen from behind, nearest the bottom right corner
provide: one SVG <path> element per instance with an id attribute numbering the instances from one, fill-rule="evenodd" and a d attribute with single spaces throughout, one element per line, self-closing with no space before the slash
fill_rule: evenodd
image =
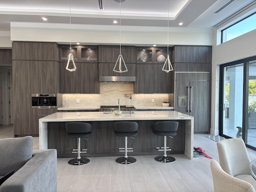
<path id="1" fill-rule="evenodd" d="M 214 192 L 255 192 L 250 183 L 227 174 L 215 160 L 210 164 Z"/>

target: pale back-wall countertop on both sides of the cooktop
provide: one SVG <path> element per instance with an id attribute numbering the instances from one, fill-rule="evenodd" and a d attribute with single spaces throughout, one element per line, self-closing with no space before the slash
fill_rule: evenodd
<path id="1" fill-rule="evenodd" d="M 172 106 L 134 106 L 136 109 L 174 109 Z M 58 110 L 98 110 L 100 106 L 59 107 Z"/>

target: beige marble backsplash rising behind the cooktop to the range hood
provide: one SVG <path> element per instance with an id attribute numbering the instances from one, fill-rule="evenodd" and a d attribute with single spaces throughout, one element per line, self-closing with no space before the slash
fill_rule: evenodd
<path id="1" fill-rule="evenodd" d="M 125 94 L 132 94 L 125 97 Z M 100 94 L 62 94 L 62 102 L 70 107 L 118 105 L 162 106 L 169 94 L 134 94 L 134 82 L 101 82 Z M 76 103 L 76 99 L 80 103 Z M 152 102 L 154 99 L 154 103 Z"/>

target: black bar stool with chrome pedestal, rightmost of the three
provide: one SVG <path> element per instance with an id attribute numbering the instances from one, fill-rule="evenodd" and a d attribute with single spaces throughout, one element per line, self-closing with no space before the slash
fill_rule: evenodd
<path id="1" fill-rule="evenodd" d="M 178 130 L 179 123 L 176 121 L 162 121 L 156 122 L 152 125 L 152 131 L 154 134 L 158 136 L 164 136 L 164 147 L 156 147 L 158 151 L 164 151 L 163 156 L 157 156 L 155 158 L 156 161 L 159 162 L 174 162 L 175 158 L 166 155 L 166 151 L 170 151 L 170 147 L 166 147 L 166 136 L 172 138 L 172 136 L 176 136 L 176 131 Z"/>

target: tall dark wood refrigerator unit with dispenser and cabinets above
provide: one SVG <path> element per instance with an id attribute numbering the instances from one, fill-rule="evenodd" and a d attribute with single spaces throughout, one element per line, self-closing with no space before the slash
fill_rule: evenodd
<path id="1" fill-rule="evenodd" d="M 210 132 L 211 46 L 174 46 L 175 110 L 194 117 L 194 132 Z"/>

